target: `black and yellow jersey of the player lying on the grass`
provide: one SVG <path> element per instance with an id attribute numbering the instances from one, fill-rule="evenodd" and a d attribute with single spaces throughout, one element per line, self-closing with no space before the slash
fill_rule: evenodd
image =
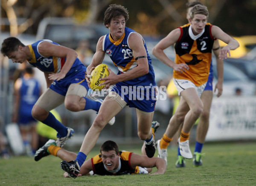
<path id="1" fill-rule="evenodd" d="M 93 165 L 93 174 L 98 175 L 121 175 L 121 174 L 138 174 L 139 167 L 136 166 L 135 169 L 131 167 L 130 160 L 132 152 L 128 151 L 119 151 L 120 154 L 120 161 L 121 163 L 119 171 L 116 173 L 109 172 L 105 169 L 105 166 L 102 162 L 102 155 L 98 154 L 95 157 L 91 158 L 91 162 Z"/>

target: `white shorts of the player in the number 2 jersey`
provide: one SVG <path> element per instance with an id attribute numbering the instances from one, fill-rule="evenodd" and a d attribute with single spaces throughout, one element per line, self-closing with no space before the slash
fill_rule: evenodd
<path id="1" fill-rule="evenodd" d="M 182 90 L 185 90 L 188 88 L 195 88 L 196 92 L 198 93 L 198 96 L 201 97 L 201 94 L 203 93 L 204 88 L 207 84 L 207 82 L 205 82 L 201 86 L 195 86 L 194 83 L 192 83 L 191 81 L 189 81 L 187 79 L 175 79 L 175 78 L 173 78 L 173 82 L 175 84 L 175 87 L 178 91 L 179 96 L 180 96 L 180 93 L 182 92 Z"/>

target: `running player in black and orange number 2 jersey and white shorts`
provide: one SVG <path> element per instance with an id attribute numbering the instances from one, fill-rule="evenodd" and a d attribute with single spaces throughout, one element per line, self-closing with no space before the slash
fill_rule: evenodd
<path id="1" fill-rule="evenodd" d="M 165 134 L 157 142 L 158 154 L 164 159 L 166 159 L 164 155 L 167 155 L 167 146 L 182 124 L 178 139 L 180 154 L 187 159 L 193 157 L 189 149 L 189 133 L 204 110 L 200 97 L 209 77 L 214 41 L 220 39 L 227 44 L 220 49 L 218 55 L 220 59 L 227 58 L 227 53 L 230 55 L 230 50 L 239 47 L 239 43 L 218 26 L 207 23 L 208 16 L 209 12 L 206 6 L 193 6 L 190 11 L 189 24 L 170 32 L 152 50 L 153 55 L 174 69 L 174 83 L 180 95 L 177 110 L 170 119 Z M 175 62 L 169 59 L 163 51 L 173 44 L 175 44 L 176 52 Z M 220 95 L 221 92 L 218 92 L 218 96 Z"/>

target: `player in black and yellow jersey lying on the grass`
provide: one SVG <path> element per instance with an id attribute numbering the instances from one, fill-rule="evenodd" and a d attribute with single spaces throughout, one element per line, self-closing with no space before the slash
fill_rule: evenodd
<path id="1" fill-rule="evenodd" d="M 159 127 L 158 122 L 152 122 L 152 131 Z M 154 130 L 153 130 L 154 129 Z M 78 176 L 82 175 L 121 175 L 121 174 L 148 174 L 152 167 L 157 167 L 157 172 L 152 174 L 163 174 L 166 171 L 166 161 L 162 158 L 139 155 L 129 151 L 119 151 L 118 145 L 113 141 L 106 141 L 100 148 L 101 154 L 86 160 L 81 166 Z M 64 150 L 56 146 L 54 139 L 49 141 L 35 154 L 35 161 L 52 154 L 62 160 L 71 161 L 76 153 Z M 142 147 L 145 154 L 145 143 Z M 64 177 L 68 177 L 67 172 Z"/>

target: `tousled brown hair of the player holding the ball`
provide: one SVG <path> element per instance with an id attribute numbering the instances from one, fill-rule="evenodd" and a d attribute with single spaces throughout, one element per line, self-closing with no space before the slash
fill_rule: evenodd
<path id="1" fill-rule="evenodd" d="M 119 17 L 120 15 L 125 17 L 125 23 L 129 19 L 128 10 L 121 5 L 112 4 L 108 6 L 108 9 L 105 11 L 104 14 L 104 25 L 109 24 L 112 19 Z M 108 28 L 106 26 L 106 28 Z"/>

